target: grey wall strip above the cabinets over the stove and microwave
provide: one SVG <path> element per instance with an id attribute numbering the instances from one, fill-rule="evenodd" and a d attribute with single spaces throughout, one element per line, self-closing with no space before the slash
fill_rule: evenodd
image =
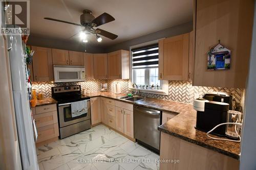
<path id="1" fill-rule="evenodd" d="M 49 47 L 49 48 L 58 48 L 62 50 L 71 50 L 71 51 L 79 51 L 88 53 L 104 53 L 104 48 L 99 45 L 85 45 L 84 43 L 79 43 L 77 41 L 65 41 L 59 39 L 52 39 L 46 37 L 38 37 L 30 35 L 28 45 L 35 45 L 35 46 L 42 46 L 42 47 Z"/>

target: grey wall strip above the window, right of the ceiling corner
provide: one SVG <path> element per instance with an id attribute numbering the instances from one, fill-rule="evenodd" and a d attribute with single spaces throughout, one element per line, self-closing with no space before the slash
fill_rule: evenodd
<path id="1" fill-rule="evenodd" d="M 132 45 L 137 45 L 140 43 L 153 41 L 153 40 L 157 40 L 164 37 L 171 37 L 179 34 L 184 34 L 192 30 L 193 30 L 193 22 L 191 21 L 191 22 L 183 23 L 182 25 L 179 25 L 179 26 L 170 27 L 161 31 L 157 31 L 155 33 L 147 34 L 147 35 L 134 38 L 128 41 L 124 41 L 115 45 L 107 46 L 105 48 L 105 52 L 109 53 L 109 52 L 113 52 L 120 49 L 130 50 L 129 48 Z"/>

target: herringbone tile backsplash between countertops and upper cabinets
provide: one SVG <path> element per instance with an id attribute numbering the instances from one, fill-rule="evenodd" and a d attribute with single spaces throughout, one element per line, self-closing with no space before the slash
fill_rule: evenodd
<path id="1" fill-rule="evenodd" d="M 32 88 L 41 89 L 45 94 L 45 98 L 51 98 L 51 87 L 54 86 L 81 85 L 81 88 L 89 88 L 91 92 L 97 92 L 100 91 L 100 83 L 108 83 L 109 91 L 114 91 L 115 84 L 120 83 L 121 92 L 127 93 L 129 91 L 130 80 L 89 80 L 71 83 L 33 82 Z M 193 103 L 196 93 L 201 97 L 204 93 L 211 91 L 229 92 L 238 103 L 243 103 L 244 89 L 192 86 L 191 82 L 188 81 L 169 81 L 168 95 L 147 93 L 146 96 Z M 145 95 L 145 93 L 142 93 L 142 95 Z"/>

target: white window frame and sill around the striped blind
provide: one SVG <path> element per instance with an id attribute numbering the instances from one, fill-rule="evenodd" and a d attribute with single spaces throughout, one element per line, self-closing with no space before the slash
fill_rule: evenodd
<path id="1" fill-rule="evenodd" d="M 133 54 L 132 54 L 132 48 L 137 48 L 137 47 L 141 47 L 141 46 L 155 44 L 155 43 L 158 43 L 158 40 L 159 39 L 130 46 L 130 85 L 129 85 L 129 90 L 135 90 L 136 89 L 132 85 L 133 84 L 133 61 L 132 61 L 133 60 Z M 159 68 L 159 66 L 158 66 L 158 68 Z M 145 77 L 146 77 L 146 71 L 145 71 Z M 150 78 L 149 71 L 148 71 L 148 78 Z M 161 89 L 159 89 L 159 90 L 158 89 L 141 89 L 141 88 L 138 88 L 138 89 L 141 92 L 168 95 L 168 81 L 167 80 L 160 80 L 160 85 L 161 85 Z"/>

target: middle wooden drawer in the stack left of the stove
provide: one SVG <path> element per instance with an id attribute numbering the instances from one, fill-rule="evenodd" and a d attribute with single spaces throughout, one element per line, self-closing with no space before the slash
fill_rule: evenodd
<path id="1" fill-rule="evenodd" d="M 57 111 L 34 115 L 37 128 L 58 123 Z"/>

